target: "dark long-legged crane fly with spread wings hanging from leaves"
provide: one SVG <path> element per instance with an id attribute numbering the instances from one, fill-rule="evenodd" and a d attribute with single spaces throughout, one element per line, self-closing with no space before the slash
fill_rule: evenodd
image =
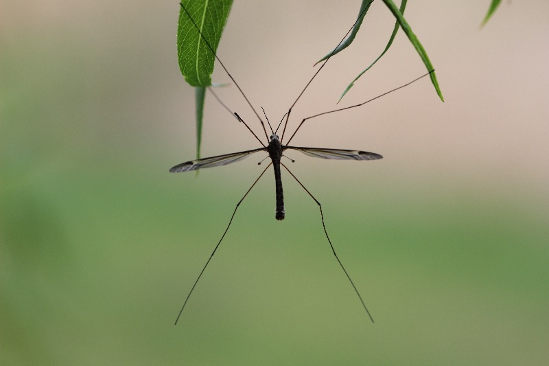
<path id="1" fill-rule="evenodd" d="M 233 211 L 233 214 L 231 216 L 231 219 L 229 220 L 229 224 L 227 225 L 227 227 L 226 227 L 222 237 L 220 238 L 218 244 L 213 249 L 213 252 L 211 253 L 209 259 L 207 260 L 205 266 L 202 268 L 202 271 L 200 271 L 200 274 L 196 278 L 196 281 L 194 282 L 193 286 L 191 287 L 191 290 L 189 291 L 189 293 L 187 295 L 187 298 L 185 299 L 185 302 L 183 303 L 183 306 L 180 309 L 180 312 L 177 316 L 177 319 L 176 319 L 175 323 L 177 324 L 181 314 L 183 313 L 183 310 L 185 309 L 185 306 L 187 305 L 187 301 L 189 301 L 189 298 L 191 297 L 191 294 L 193 293 L 194 288 L 196 287 L 196 284 L 198 284 L 198 281 L 200 280 L 200 277 L 202 277 L 202 273 L 204 273 L 206 267 L 208 266 L 209 262 L 211 261 L 211 258 L 213 258 L 213 255 L 215 254 L 215 251 L 217 251 L 217 249 L 220 246 L 220 244 L 221 244 L 223 238 L 225 237 L 227 231 L 229 231 L 229 227 L 231 227 L 231 222 L 233 222 L 233 218 L 235 217 L 235 214 L 236 214 L 236 211 L 237 211 L 238 207 L 240 206 L 242 201 L 244 201 L 244 198 L 246 198 L 246 196 L 248 196 L 248 194 L 253 189 L 253 187 L 255 186 L 257 181 L 259 181 L 259 179 L 261 179 L 261 176 L 263 176 L 265 174 L 265 172 L 268 170 L 268 168 L 270 168 L 271 165 L 272 165 L 273 170 L 274 170 L 274 182 L 275 182 L 275 187 L 276 187 L 276 210 L 275 210 L 274 217 L 277 220 L 283 220 L 285 218 L 284 198 L 283 198 L 283 188 L 282 188 L 282 178 L 281 178 L 281 167 L 282 167 L 288 173 L 290 173 L 290 175 L 297 181 L 297 183 L 299 183 L 299 185 L 301 185 L 301 187 L 303 187 L 305 192 L 307 192 L 307 194 L 309 194 L 309 196 L 311 196 L 311 198 L 318 205 L 318 208 L 320 209 L 320 219 L 322 220 L 324 233 L 325 233 L 325 236 L 326 236 L 326 238 L 329 242 L 331 251 L 334 253 L 334 256 L 336 257 L 336 260 L 338 261 L 338 263 L 340 264 L 340 267 L 342 268 L 345 275 L 347 276 L 347 279 L 349 279 L 349 282 L 353 286 L 353 289 L 355 290 L 356 295 L 358 295 L 358 298 L 360 299 L 360 302 L 362 303 L 362 307 L 364 308 L 364 310 L 366 310 L 366 314 L 368 314 L 369 319 L 373 323 L 374 322 L 373 317 L 372 317 L 370 311 L 368 310 L 368 308 L 366 307 L 366 304 L 365 304 L 364 300 L 362 299 L 362 296 L 358 292 L 358 288 L 356 288 L 355 284 L 353 283 L 353 280 L 351 279 L 351 276 L 349 275 L 349 273 L 347 273 L 347 270 L 344 268 L 342 262 L 340 261 L 338 255 L 336 254 L 336 250 L 334 249 L 334 245 L 331 243 L 331 240 L 328 236 L 328 233 L 327 233 L 327 230 L 326 230 L 326 225 L 325 225 L 325 222 L 324 222 L 324 214 L 323 214 L 323 210 L 322 210 L 322 205 L 320 205 L 320 202 L 311 194 L 311 192 L 309 192 L 309 190 L 307 190 L 305 185 L 303 185 L 303 183 L 301 183 L 301 181 L 299 181 L 299 179 L 297 179 L 297 177 L 288 169 L 288 167 L 286 167 L 286 165 L 284 165 L 284 163 L 282 163 L 281 159 L 282 159 L 282 157 L 285 156 L 285 155 L 283 155 L 285 150 L 297 150 L 297 151 L 302 152 L 303 154 L 308 155 L 310 157 L 316 157 L 316 158 L 321 158 L 321 159 L 360 160 L 360 161 L 369 161 L 369 160 L 382 159 L 382 155 L 376 154 L 375 152 L 366 152 L 366 151 L 361 151 L 361 150 L 347 150 L 347 149 L 332 149 L 332 148 L 308 148 L 308 147 L 290 146 L 289 144 L 290 144 L 290 141 L 292 141 L 292 139 L 296 135 L 297 131 L 301 128 L 301 126 L 303 126 L 303 123 L 305 121 L 307 121 L 308 119 L 319 117 L 320 115 L 326 115 L 328 113 L 336 113 L 336 112 L 339 112 L 339 111 L 344 111 L 344 110 L 349 109 L 349 108 L 355 108 L 355 107 L 358 107 L 358 106 L 362 106 L 362 105 L 364 105 L 368 102 L 371 102 L 372 100 L 375 100 L 377 98 L 381 98 L 382 96 L 384 96 L 388 93 L 392 93 L 393 91 L 404 88 L 404 87 L 408 86 L 409 84 L 412 84 L 412 82 L 415 82 L 415 81 L 417 81 L 417 80 L 419 80 L 419 79 L 421 79 L 425 76 L 428 76 L 430 73 L 425 73 L 425 75 L 423 75 L 423 76 L 421 76 L 417 79 L 414 79 L 411 82 L 408 82 L 407 84 L 402 85 L 401 87 L 397 87 L 393 90 L 387 91 L 386 93 L 383 93 L 382 95 L 378 95 L 377 97 L 372 98 L 371 100 L 367 100 L 366 102 L 363 102 L 363 103 L 360 103 L 360 104 L 355 104 L 353 106 L 347 106 L 347 107 L 344 107 L 344 108 L 338 108 L 338 109 L 335 109 L 335 110 L 332 110 L 332 111 L 318 113 L 316 115 L 312 115 L 310 117 L 303 118 L 301 120 L 301 123 L 299 124 L 299 126 L 297 126 L 297 128 L 294 130 L 294 133 L 290 136 L 290 138 L 286 142 L 286 144 L 283 144 L 285 130 L 286 130 L 286 127 L 288 126 L 288 119 L 290 118 L 290 115 L 292 113 L 292 108 L 296 105 L 298 100 L 301 98 L 301 95 L 303 95 L 303 93 L 305 92 L 307 87 L 309 87 L 309 84 L 318 75 L 320 70 L 323 69 L 323 67 L 326 65 L 326 62 L 331 58 L 332 55 L 330 55 L 323 62 L 323 64 L 318 68 L 316 73 L 314 73 L 314 75 L 309 80 L 309 82 L 307 82 L 307 85 L 305 85 L 305 88 L 303 89 L 303 91 L 301 91 L 301 93 L 296 98 L 296 100 L 294 101 L 292 106 L 290 106 L 290 108 L 288 109 L 288 112 L 285 113 L 285 115 L 282 117 L 279 125 L 277 126 L 277 128 L 275 130 L 272 129 L 272 126 L 271 126 L 270 122 L 268 121 L 267 116 L 265 115 L 266 120 L 268 122 L 268 126 L 270 127 L 270 131 L 271 131 L 270 136 L 268 136 L 265 124 L 264 124 L 263 120 L 261 119 L 261 117 L 259 117 L 259 114 L 255 110 L 255 108 L 249 102 L 248 98 L 246 98 L 246 95 L 244 94 L 244 92 L 242 91 L 240 86 L 237 84 L 235 79 L 231 76 L 229 71 L 227 71 L 226 67 L 223 65 L 220 58 L 215 54 L 215 52 L 213 51 L 213 48 L 211 47 L 211 45 L 209 45 L 207 39 L 202 34 L 202 32 L 200 32 L 200 29 L 196 25 L 194 19 L 192 19 L 191 14 L 189 14 L 189 12 L 187 11 L 187 9 L 183 5 L 183 3 L 181 3 L 180 5 L 183 8 L 183 10 L 185 11 L 185 13 L 187 14 L 187 16 L 189 16 L 189 20 L 194 24 L 194 27 L 196 27 L 196 30 L 198 30 L 198 32 L 200 34 L 200 37 L 202 38 L 202 41 L 205 42 L 205 44 L 210 49 L 213 56 L 215 56 L 215 58 L 218 60 L 218 62 L 220 63 L 222 68 L 225 70 L 225 72 L 227 73 L 229 78 L 231 78 L 231 80 L 235 83 L 235 86 L 240 91 L 240 93 L 242 93 L 244 99 L 246 100 L 246 102 L 248 103 L 250 108 L 253 110 L 253 112 L 255 113 L 257 118 L 259 119 L 259 122 L 261 123 L 261 126 L 263 127 L 263 130 L 264 130 L 264 133 L 265 133 L 267 144 L 264 144 L 264 141 L 261 141 L 261 139 L 259 139 L 259 137 L 257 137 L 257 135 L 255 135 L 255 133 L 253 133 L 253 130 L 250 129 L 248 124 L 246 124 L 246 122 L 244 122 L 244 119 L 242 119 L 240 117 L 240 115 L 238 115 L 238 113 L 231 112 L 231 114 L 234 117 L 236 117 L 239 122 L 242 122 L 242 124 L 244 124 L 246 126 L 246 128 L 248 128 L 248 130 L 250 130 L 250 133 L 252 133 L 254 135 L 254 137 L 257 139 L 257 141 L 259 141 L 259 143 L 261 144 L 261 146 L 262 146 L 261 148 L 256 148 L 256 149 L 253 149 L 253 150 L 246 150 L 246 151 L 241 151 L 241 152 L 233 152 L 231 154 L 218 155 L 218 156 L 215 156 L 215 157 L 207 157 L 207 158 L 203 158 L 203 159 L 196 159 L 196 160 L 186 161 L 185 163 L 180 163 L 178 165 L 175 165 L 173 168 L 170 169 L 170 172 L 189 172 L 189 171 L 192 171 L 192 170 L 198 170 L 198 169 L 202 169 L 202 168 L 213 168 L 213 167 L 216 167 L 216 166 L 227 165 L 227 164 L 235 163 L 237 161 L 241 161 L 242 159 L 245 159 L 246 157 L 254 154 L 255 152 L 267 152 L 268 157 L 270 157 L 270 163 L 263 170 L 263 172 L 261 172 L 261 174 L 255 180 L 253 185 L 251 185 L 251 187 L 248 189 L 248 191 L 246 191 L 246 194 L 244 194 L 244 196 L 237 203 L 237 205 L 236 205 L 236 207 Z M 353 25 L 353 27 L 354 27 L 354 25 Z M 352 30 L 352 27 L 351 27 L 351 30 Z M 351 32 L 351 30 L 349 30 L 349 32 Z M 349 32 L 347 32 L 347 34 L 349 34 Z M 345 39 L 345 37 L 347 37 L 347 34 L 345 34 L 342 41 Z M 342 41 L 340 42 L 340 44 L 342 43 Z M 334 49 L 334 51 L 335 51 L 335 49 Z M 332 52 L 332 54 L 333 53 L 334 52 Z M 215 93 L 214 93 L 214 95 L 215 95 Z M 215 98 L 217 98 L 217 96 L 215 96 Z M 226 106 L 225 106 L 225 108 L 229 109 Z M 230 109 L 229 109 L 229 111 L 230 111 Z M 282 135 L 281 135 L 281 137 L 279 137 L 279 135 L 277 135 L 277 133 L 278 133 L 278 130 L 281 127 L 281 124 L 283 122 L 284 122 L 284 127 L 283 127 L 283 130 L 282 130 Z"/>

